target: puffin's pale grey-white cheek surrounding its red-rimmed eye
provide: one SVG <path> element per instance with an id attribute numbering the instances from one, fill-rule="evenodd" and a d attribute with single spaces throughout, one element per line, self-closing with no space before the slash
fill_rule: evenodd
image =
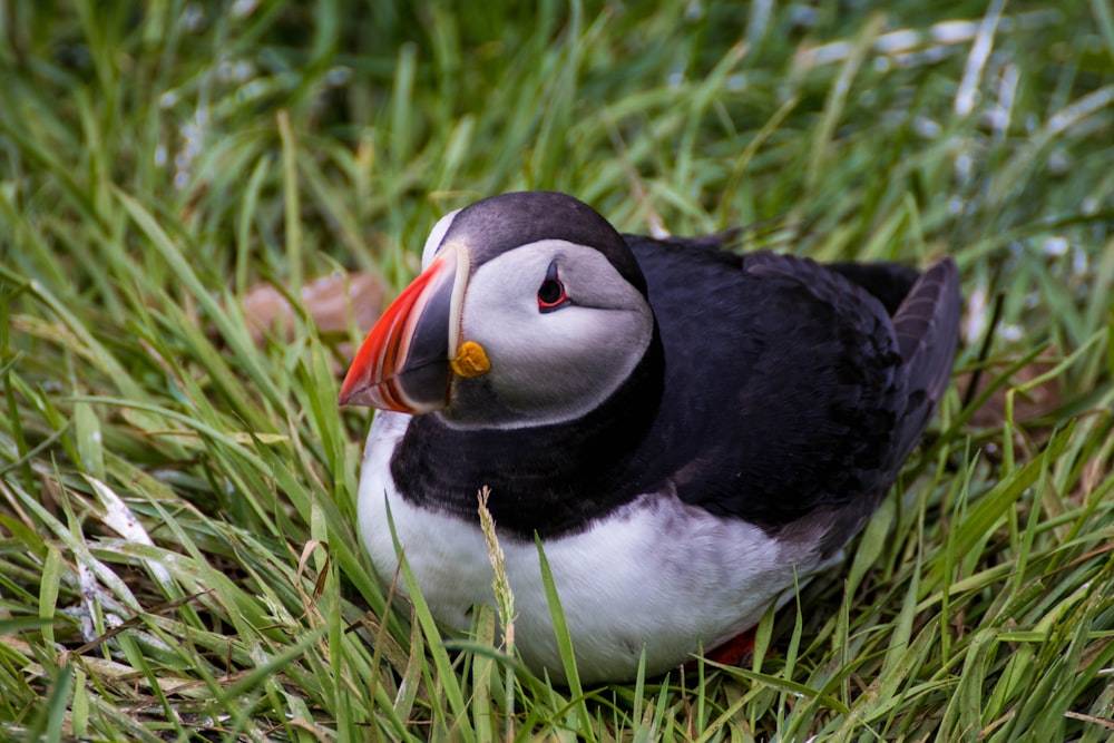
<path id="1" fill-rule="evenodd" d="M 568 302 L 543 311 L 538 292 L 551 266 Z M 443 416 L 461 427 L 579 418 L 622 385 L 653 331 L 645 297 L 598 251 L 563 239 L 508 251 L 477 268 L 461 311 L 460 340 L 482 345 L 491 369 L 455 382 L 488 385 L 500 410 L 470 411 L 457 404 L 461 395 L 455 390 Z"/>

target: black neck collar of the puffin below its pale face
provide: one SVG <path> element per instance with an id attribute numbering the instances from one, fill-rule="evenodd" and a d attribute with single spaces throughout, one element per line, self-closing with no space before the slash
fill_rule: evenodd
<path id="1" fill-rule="evenodd" d="M 407 500 L 478 521 L 477 493 L 501 532 L 530 540 L 576 532 L 654 485 L 632 467 L 662 400 L 657 327 L 631 377 L 596 410 L 537 428 L 460 430 L 414 418 L 391 459 Z M 431 538 L 436 538 L 432 536 Z"/>

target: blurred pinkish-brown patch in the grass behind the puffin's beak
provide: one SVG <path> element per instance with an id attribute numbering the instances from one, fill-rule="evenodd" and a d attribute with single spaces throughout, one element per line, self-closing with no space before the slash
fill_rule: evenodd
<path id="1" fill-rule="evenodd" d="M 367 333 L 383 313 L 385 301 L 385 283 L 378 274 L 367 271 L 332 273 L 302 287 L 302 305 L 322 333 L 346 332 L 350 321 L 354 321 L 360 332 Z M 256 345 L 262 345 L 268 333 L 281 338 L 291 338 L 294 333 L 294 310 L 271 284 L 248 290 L 244 296 L 244 316 Z M 339 349 L 351 360 L 354 349 L 350 343 Z"/>

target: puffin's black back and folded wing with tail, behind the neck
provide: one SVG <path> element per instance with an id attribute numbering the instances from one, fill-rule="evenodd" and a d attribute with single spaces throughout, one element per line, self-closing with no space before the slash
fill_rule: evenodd
<path id="1" fill-rule="evenodd" d="M 627 239 L 666 353 L 641 465 L 687 502 L 773 529 L 823 506 L 872 510 L 947 387 L 954 264 L 920 276 Z"/>

